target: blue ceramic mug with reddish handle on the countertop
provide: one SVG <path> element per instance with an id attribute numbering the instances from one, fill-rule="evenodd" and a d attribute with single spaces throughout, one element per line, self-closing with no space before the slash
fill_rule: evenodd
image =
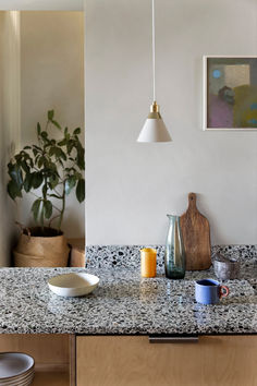
<path id="1" fill-rule="evenodd" d="M 229 288 L 212 279 L 203 279 L 195 282 L 195 300 L 201 304 L 217 304 L 220 298 L 228 297 Z"/>

